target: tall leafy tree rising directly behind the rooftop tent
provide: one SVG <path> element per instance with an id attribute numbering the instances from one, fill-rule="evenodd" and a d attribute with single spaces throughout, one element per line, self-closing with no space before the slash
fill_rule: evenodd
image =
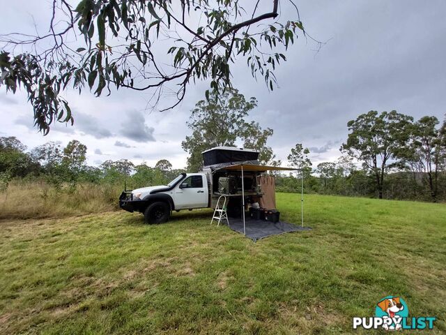
<path id="1" fill-rule="evenodd" d="M 266 146 L 272 129 L 263 131 L 258 123 L 245 121 L 245 117 L 257 106 L 256 98 L 247 101 L 238 90 L 227 89 L 220 96 L 211 94 L 208 101 L 199 101 L 195 106 L 187 122 L 192 135 L 186 136 L 181 143 L 190 154 L 187 165 L 191 171 L 201 168 L 201 152 L 213 147 L 233 147 L 237 140 L 249 149 L 261 151 L 263 162 L 274 158 L 272 149 Z"/>

